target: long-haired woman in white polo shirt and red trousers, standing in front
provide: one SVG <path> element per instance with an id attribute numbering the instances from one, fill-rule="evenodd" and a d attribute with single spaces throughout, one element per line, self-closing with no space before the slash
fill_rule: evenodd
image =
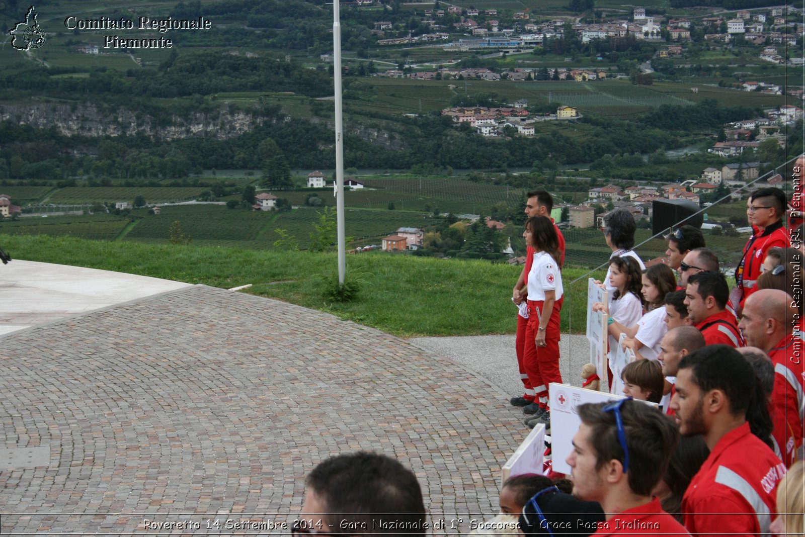
<path id="1" fill-rule="evenodd" d="M 562 273 L 559 272 L 562 268 L 559 240 L 551 219 L 545 216 L 527 219 L 522 236 L 526 245 L 535 251 L 526 283 L 526 340 L 535 342 L 535 345 L 526 346 L 523 364 L 536 395 L 534 403 L 524 407 L 523 412 L 534 414 L 533 420 L 550 427 L 548 384 L 562 382 L 559 372 L 559 308 L 555 307 L 556 301 L 564 296 Z"/>

